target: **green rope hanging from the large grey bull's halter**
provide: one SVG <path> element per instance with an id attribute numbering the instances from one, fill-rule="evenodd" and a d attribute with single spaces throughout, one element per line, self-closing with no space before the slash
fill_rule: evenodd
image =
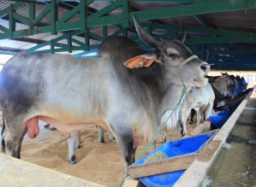
<path id="1" fill-rule="evenodd" d="M 182 102 L 182 108 L 183 108 L 183 106 L 184 106 L 184 97 L 186 96 L 186 93 L 187 93 L 187 88 L 186 88 L 185 86 L 183 86 L 182 96 L 180 97 L 179 102 L 176 104 L 176 107 L 173 109 L 173 111 L 171 112 L 171 114 L 170 114 L 170 116 L 168 117 L 168 119 L 165 120 L 164 124 L 158 129 L 157 133 L 156 133 L 155 136 L 152 138 L 152 140 L 151 140 L 149 143 L 146 144 L 146 147 L 145 147 L 144 149 L 142 149 L 142 151 L 140 152 L 140 155 L 136 158 L 135 161 L 140 160 L 140 157 L 145 153 L 146 149 L 148 149 L 148 147 L 153 143 L 153 141 L 159 136 L 160 132 L 163 131 L 164 127 L 167 125 L 168 120 L 170 120 L 170 117 L 172 116 L 172 114 L 174 114 L 174 112 L 176 111 L 176 109 L 181 105 L 181 102 Z M 180 110 L 180 112 L 179 112 L 178 120 L 179 120 L 180 117 L 181 117 L 182 108 L 181 108 L 181 110 Z M 177 120 L 177 122 L 176 122 L 176 126 L 177 126 L 177 124 L 178 124 L 178 120 Z M 176 126 L 175 126 L 174 132 L 176 131 Z M 174 132 L 173 132 L 173 134 L 172 134 L 172 136 L 171 136 L 171 139 L 172 139 L 172 137 L 173 137 L 173 135 L 174 135 Z M 170 139 L 170 140 L 171 140 L 171 139 Z M 124 183 L 125 178 L 127 178 L 127 177 L 128 177 L 128 174 L 126 174 L 126 176 L 122 179 L 121 184 L 120 184 L 119 186 L 115 186 L 115 187 L 121 187 L 122 184 Z"/>

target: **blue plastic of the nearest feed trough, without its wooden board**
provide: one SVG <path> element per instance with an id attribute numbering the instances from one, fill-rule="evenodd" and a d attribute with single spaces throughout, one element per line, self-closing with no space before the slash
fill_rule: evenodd
<path id="1" fill-rule="evenodd" d="M 143 164 L 147 157 L 155 154 L 158 151 L 161 151 L 162 153 L 167 155 L 168 158 L 199 152 L 199 150 L 203 148 L 205 143 L 211 137 L 213 137 L 214 133 L 215 131 L 211 131 L 210 134 L 205 133 L 194 137 L 180 139 L 176 142 L 170 141 L 168 143 L 164 143 L 164 145 L 162 145 L 158 149 L 155 149 L 154 151 L 152 151 L 152 153 L 146 155 L 140 161 L 134 162 L 133 166 Z M 185 171 L 186 170 L 166 172 L 163 174 L 147 176 L 139 179 L 147 187 L 170 187 L 176 183 L 176 181 L 182 176 L 183 172 Z"/>

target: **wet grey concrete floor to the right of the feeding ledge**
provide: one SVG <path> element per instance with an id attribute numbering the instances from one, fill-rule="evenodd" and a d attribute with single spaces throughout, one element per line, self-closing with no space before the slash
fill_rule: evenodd
<path id="1" fill-rule="evenodd" d="M 256 93 L 253 92 L 201 187 L 256 187 Z"/>

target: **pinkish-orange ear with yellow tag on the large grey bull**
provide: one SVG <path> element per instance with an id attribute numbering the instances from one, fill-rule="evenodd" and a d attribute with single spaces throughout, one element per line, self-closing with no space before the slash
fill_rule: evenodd
<path id="1" fill-rule="evenodd" d="M 153 59 L 148 59 L 143 56 L 135 56 L 134 58 L 125 61 L 123 64 L 129 68 L 149 67 L 152 65 Z"/>

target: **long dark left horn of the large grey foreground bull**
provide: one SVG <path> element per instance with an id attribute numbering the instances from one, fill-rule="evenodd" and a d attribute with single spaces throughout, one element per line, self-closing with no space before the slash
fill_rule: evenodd
<path id="1" fill-rule="evenodd" d="M 140 22 L 139 20 L 137 20 L 137 18 L 134 16 L 134 25 L 136 28 L 137 33 L 140 36 L 140 39 L 145 42 L 146 44 L 157 48 L 160 44 L 161 44 L 161 40 L 158 38 L 153 38 L 152 35 L 150 35 L 149 33 L 146 32 L 146 30 L 140 26 Z"/>

